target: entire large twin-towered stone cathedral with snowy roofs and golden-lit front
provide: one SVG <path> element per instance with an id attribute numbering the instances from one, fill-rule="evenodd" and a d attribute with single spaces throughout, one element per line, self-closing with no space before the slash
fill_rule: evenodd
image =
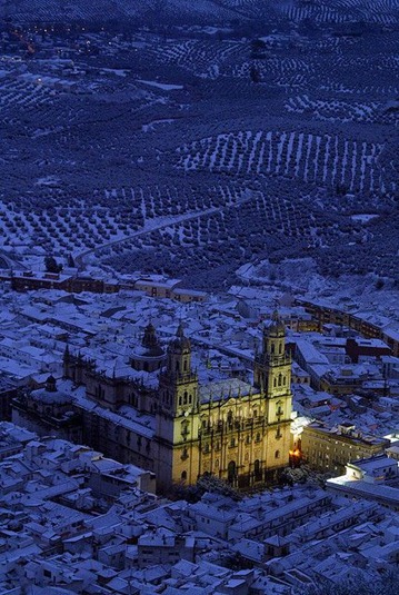
<path id="1" fill-rule="evenodd" d="M 94 361 L 67 348 L 66 388 L 57 390 L 72 394 L 68 407 L 74 411 L 76 433 L 80 420 L 83 443 L 154 472 L 160 492 L 194 484 L 205 474 L 242 488 L 271 483 L 289 463 L 291 360 L 285 343 L 285 325 L 275 313 L 255 357 L 253 385 L 238 378 L 202 385 L 182 326 L 164 353 L 149 324 L 129 358 L 129 375 L 99 371 Z M 53 383 L 50 388 L 42 395 L 54 401 Z M 24 394 L 19 415 L 30 417 L 40 395 Z M 54 407 L 64 403 L 57 397 L 52 418 Z"/>

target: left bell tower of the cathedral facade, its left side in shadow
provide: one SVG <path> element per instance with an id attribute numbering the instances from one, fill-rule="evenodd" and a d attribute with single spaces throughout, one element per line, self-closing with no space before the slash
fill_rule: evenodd
<path id="1" fill-rule="evenodd" d="M 191 341 L 180 324 L 169 344 L 159 377 L 157 438 L 160 443 L 160 485 L 194 483 L 198 477 L 198 376 L 191 367 Z"/>

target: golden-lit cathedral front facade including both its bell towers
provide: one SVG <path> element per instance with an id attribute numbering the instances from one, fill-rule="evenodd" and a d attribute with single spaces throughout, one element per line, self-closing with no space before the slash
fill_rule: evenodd
<path id="1" fill-rule="evenodd" d="M 263 329 L 253 386 L 231 379 L 201 386 L 182 329 L 160 375 L 156 439 L 161 484 L 211 474 L 238 487 L 272 482 L 288 466 L 291 360 L 277 315 Z"/>

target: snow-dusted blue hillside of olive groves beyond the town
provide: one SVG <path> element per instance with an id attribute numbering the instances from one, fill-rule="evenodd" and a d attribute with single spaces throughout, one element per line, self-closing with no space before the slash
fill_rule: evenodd
<path id="1" fill-rule="evenodd" d="M 399 0 L 192 7 L 3 4 L 2 254 L 206 289 L 310 257 L 395 285 Z"/>

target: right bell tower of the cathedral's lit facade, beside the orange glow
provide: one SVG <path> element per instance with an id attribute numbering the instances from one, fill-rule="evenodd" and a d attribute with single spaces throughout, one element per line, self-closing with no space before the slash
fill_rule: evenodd
<path id="1" fill-rule="evenodd" d="M 289 463 L 292 410 L 291 357 L 286 353 L 286 327 L 275 310 L 263 328 L 262 351 L 256 357 L 253 384 L 266 404 L 267 456 L 270 478 Z"/>

